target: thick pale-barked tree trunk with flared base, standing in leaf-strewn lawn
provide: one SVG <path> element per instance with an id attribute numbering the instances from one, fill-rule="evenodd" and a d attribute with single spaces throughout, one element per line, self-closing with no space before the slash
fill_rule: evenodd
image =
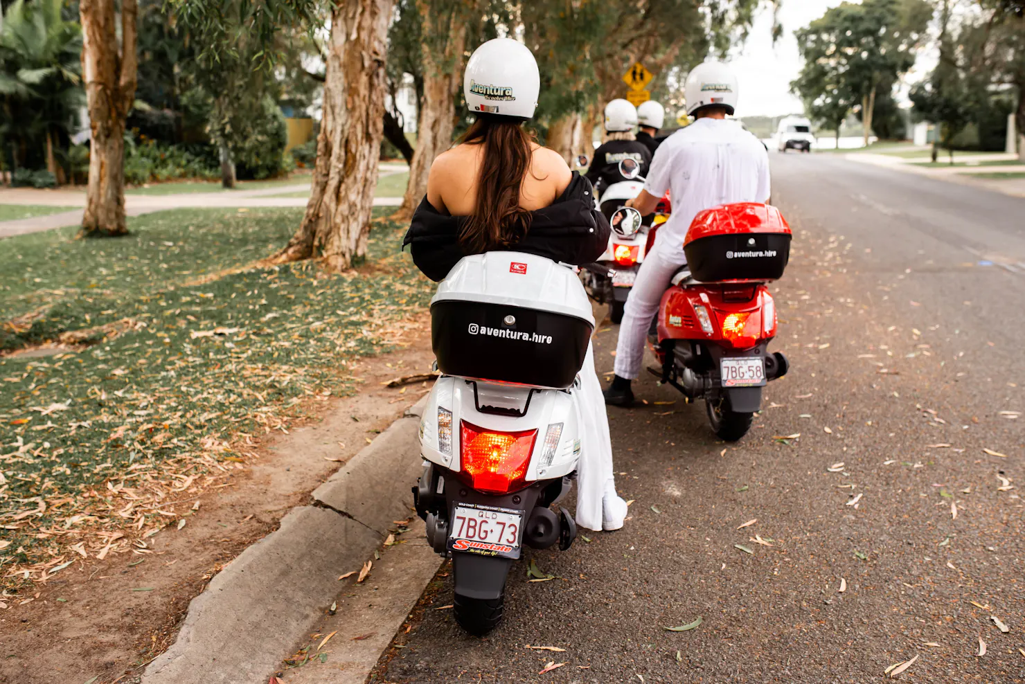
<path id="1" fill-rule="evenodd" d="M 391 17 L 392 0 L 339 0 L 334 5 L 313 193 L 302 224 L 271 263 L 321 256 L 329 268 L 342 270 L 366 255 L 387 92 Z"/>

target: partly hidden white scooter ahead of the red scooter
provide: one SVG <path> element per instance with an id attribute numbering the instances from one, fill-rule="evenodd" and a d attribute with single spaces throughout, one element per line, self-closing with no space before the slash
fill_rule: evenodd
<path id="1" fill-rule="evenodd" d="M 610 184 L 602 193 L 598 208 L 606 218 L 613 221 L 617 209 L 623 207 L 628 200 L 641 195 L 644 189 L 644 178 L 641 177 L 641 166 L 632 159 L 619 162 L 619 174 L 623 180 Z M 590 271 L 582 273 L 584 288 L 587 294 L 599 304 L 609 302 L 609 317 L 618 324 L 623 318 L 623 307 L 626 298 L 633 287 L 638 270 L 644 261 L 648 244 L 648 226 L 632 222 L 616 223 L 612 226 L 609 237 L 609 248 L 598 263 L 614 270 L 611 277 L 602 277 Z"/>

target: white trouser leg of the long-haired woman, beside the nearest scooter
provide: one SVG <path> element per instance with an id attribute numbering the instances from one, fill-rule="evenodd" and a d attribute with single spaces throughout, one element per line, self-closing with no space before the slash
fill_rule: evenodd
<path id="1" fill-rule="evenodd" d="M 616 480 L 612 470 L 612 438 L 609 417 L 605 413 L 602 383 L 594 371 L 594 350 L 587 344 L 587 356 L 580 369 L 580 391 L 576 397 L 580 423 L 580 462 L 577 464 L 577 524 L 588 529 L 602 529 L 603 500 L 606 494 L 616 498 Z M 606 502 L 608 503 L 608 502 Z M 622 507 L 625 510 L 625 506 Z M 621 516 L 619 516 L 621 517 Z M 622 520 L 616 520 L 622 523 Z"/>

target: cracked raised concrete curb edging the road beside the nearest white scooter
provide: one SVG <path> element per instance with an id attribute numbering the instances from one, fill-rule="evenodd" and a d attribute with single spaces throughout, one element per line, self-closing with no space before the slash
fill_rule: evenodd
<path id="1" fill-rule="evenodd" d="M 242 552 L 189 604 L 174 644 L 144 684 L 263 682 L 338 592 L 338 575 L 408 518 L 420 471 L 416 432 L 427 395 Z"/>

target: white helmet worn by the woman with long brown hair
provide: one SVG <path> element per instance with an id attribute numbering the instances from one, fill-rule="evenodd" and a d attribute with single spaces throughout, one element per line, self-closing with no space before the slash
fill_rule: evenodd
<path id="1" fill-rule="evenodd" d="M 537 60 L 511 38 L 495 38 L 474 50 L 462 77 L 466 106 L 478 114 L 530 119 L 540 90 Z"/>

